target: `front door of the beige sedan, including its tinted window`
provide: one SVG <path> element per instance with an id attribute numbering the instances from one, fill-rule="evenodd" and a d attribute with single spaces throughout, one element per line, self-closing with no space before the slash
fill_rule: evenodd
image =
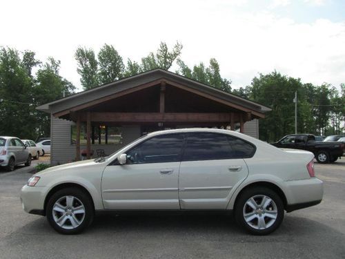
<path id="1" fill-rule="evenodd" d="M 103 171 L 105 209 L 179 209 L 178 178 L 183 134 L 151 137 Z"/>

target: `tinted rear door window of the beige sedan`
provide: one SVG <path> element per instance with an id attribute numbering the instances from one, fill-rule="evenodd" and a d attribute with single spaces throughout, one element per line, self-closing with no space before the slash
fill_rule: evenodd
<path id="1" fill-rule="evenodd" d="M 188 134 L 184 161 L 221 160 L 231 158 L 230 144 L 224 134 L 190 133 Z"/>

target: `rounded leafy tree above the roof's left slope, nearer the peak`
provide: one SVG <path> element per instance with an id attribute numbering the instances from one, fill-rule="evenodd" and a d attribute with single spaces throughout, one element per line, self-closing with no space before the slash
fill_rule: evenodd
<path id="1" fill-rule="evenodd" d="M 124 62 L 113 46 L 104 44 L 99 50 L 98 62 L 100 84 L 115 81 L 124 75 Z"/>

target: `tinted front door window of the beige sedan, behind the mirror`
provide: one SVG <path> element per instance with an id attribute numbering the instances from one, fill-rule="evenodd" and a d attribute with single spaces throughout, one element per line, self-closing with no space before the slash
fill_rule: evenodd
<path id="1" fill-rule="evenodd" d="M 179 162 L 184 144 L 183 134 L 152 137 L 127 152 L 128 164 Z"/>

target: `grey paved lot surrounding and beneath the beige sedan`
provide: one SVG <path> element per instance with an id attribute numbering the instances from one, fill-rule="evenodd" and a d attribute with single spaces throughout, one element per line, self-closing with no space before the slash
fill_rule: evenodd
<path id="1" fill-rule="evenodd" d="M 321 204 L 287 213 L 270 236 L 249 236 L 224 215 L 102 215 L 78 236 L 21 209 L 30 168 L 0 171 L 0 258 L 345 258 L 345 157 L 315 164 Z"/>

